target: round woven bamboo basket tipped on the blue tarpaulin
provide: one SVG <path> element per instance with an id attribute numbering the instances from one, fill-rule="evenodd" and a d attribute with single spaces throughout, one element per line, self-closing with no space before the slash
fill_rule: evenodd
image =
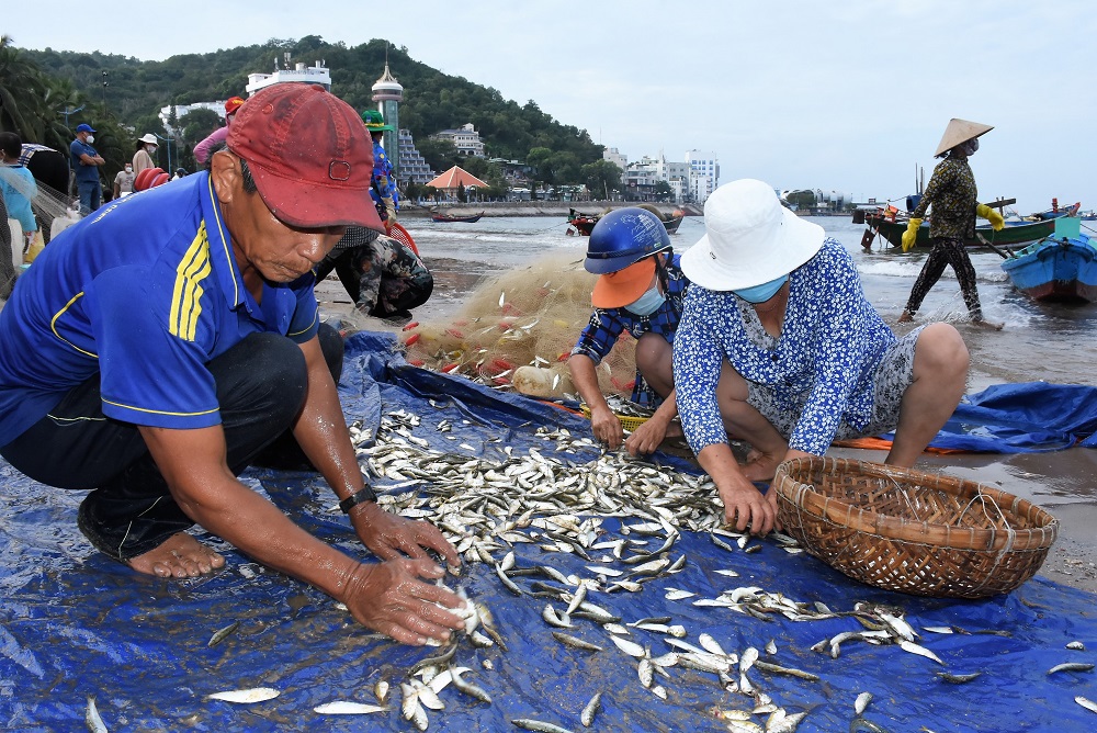
<path id="1" fill-rule="evenodd" d="M 997 488 L 879 463 L 801 458 L 773 480 L 783 531 L 862 583 L 984 598 L 1036 575 L 1059 520 Z"/>

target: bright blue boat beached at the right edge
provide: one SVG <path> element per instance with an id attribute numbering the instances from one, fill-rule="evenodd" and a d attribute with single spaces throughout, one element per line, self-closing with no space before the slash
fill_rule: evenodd
<path id="1" fill-rule="evenodd" d="M 1097 241 L 1087 235 L 1047 237 L 1013 252 L 1002 269 L 1038 301 L 1097 301 Z"/>

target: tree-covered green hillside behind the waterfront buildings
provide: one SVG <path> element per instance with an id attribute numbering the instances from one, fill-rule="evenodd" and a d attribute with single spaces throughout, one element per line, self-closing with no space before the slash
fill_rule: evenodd
<path id="1" fill-rule="evenodd" d="M 242 95 L 247 75 L 273 71 L 275 59 L 281 60 L 285 52 L 290 52 L 293 63 L 308 66 L 323 59 L 331 70 L 335 93 L 355 109 L 374 106 L 371 88 L 384 70 L 386 49 L 389 68 L 405 89 L 400 126 L 410 129 L 417 143 L 426 144 L 432 133 L 471 122 L 479 132 L 489 158 L 524 161 L 536 150 L 532 157 L 542 163 L 540 167 L 546 172 L 541 178 L 548 183 L 580 182 L 583 166 L 601 160 L 602 147 L 591 142 L 587 131 L 553 120 L 532 100 L 524 104 L 506 100 L 496 89 L 420 64 L 406 48 L 393 48 L 384 40 L 349 47 L 326 43 L 319 36 L 297 41 L 271 38 L 262 45 L 185 54 L 163 61 L 52 48 L 5 50 L 21 54 L 24 61 L 36 66 L 46 77 L 71 86 L 68 95 L 83 103 L 86 110 L 69 120 L 70 127 L 93 119 L 97 126 L 116 122 L 140 135 L 148 131 L 165 132 L 155 119 L 162 106 Z M 64 109 L 64 104 L 57 105 L 57 110 Z M 128 147 L 128 142 L 112 140 L 111 135 L 99 137 L 104 143 L 115 143 L 122 150 Z M 195 142 L 181 140 L 182 155 Z M 444 154 L 445 150 L 425 153 L 436 168 L 454 162 L 452 155 Z"/>

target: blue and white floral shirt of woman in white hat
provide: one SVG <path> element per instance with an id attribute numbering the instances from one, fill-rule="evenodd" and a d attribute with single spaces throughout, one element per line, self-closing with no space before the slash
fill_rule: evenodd
<path id="1" fill-rule="evenodd" d="M 694 453 L 726 443 L 716 405 L 724 359 L 770 391 L 779 408 L 801 410 L 789 447 L 823 455 L 839 425 L 863 428 L 872 417 L 873 374 L 895 335 L 864 297 L 846 249 L 827 238 L 793 270 L 778 338 L 750 305 L 731 292 L 689 289 L 675 338 L 675 387 L 682 430 Z"/>

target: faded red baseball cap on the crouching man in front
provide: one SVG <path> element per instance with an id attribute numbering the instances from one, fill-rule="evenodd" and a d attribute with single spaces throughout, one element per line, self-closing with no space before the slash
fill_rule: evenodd
<path id="1" fill-rule="evenodd" d="M 259 91 L 236 113 L 227 143 L 280 221 L 385 230 L 370 198 L 373 140 L 353 108 L 324 87 L 281 82 Z"/>

